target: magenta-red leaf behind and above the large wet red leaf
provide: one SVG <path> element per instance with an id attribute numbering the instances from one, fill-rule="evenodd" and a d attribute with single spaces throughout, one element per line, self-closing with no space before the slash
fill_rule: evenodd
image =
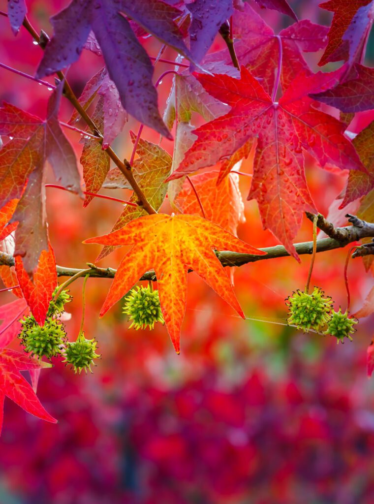
<path id="1" fill-rule="evenodd" d="M 308 70 L 302 52 L 318 51 L 327 43 L 328 28 L 311 23 L 307 19 L 294 23 L 276 35 L 247 4 L 242 12 L 234 11 L 232 24 L 235 53 L 240 66 L 244 66 L 253 76 L 261 79 L 261 84 L 268 93 L 272 92 L 280 58 L 280 78 L 284 90 L 299 72 Z M 207 68 L 208 62 L 230 65 L 231 56 L 229 51 L 224 49 L 208 54 L 203 61 L 204 68 Z M 226 73 L 220 69 L 211 71 L 214 74 Z"/>

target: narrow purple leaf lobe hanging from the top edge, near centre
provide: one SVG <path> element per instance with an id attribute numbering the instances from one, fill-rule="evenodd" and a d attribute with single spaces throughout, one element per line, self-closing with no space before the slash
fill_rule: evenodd
<path id="1" fill-rule="evenodd" d="M 232 0 L 195 0 L 186 7 L 192 14 L 189 28 L 191 52 L 200 62 L 208 51 L 222 23 L 232 14 Z"/>

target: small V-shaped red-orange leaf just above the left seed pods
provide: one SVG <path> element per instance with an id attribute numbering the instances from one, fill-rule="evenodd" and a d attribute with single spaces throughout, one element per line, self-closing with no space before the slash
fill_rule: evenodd
<path id="1" fill-rule="evenodd" d="M 33 281 L 29 278 L 20 256 L 15 257 L 15 265 L 17 278 L 31 313 L 36 322 L 43 326 L 53 290 L 57 285 L 53 249 L 49 244 L 48 250 L 43 250 L 40 254 Z"/>

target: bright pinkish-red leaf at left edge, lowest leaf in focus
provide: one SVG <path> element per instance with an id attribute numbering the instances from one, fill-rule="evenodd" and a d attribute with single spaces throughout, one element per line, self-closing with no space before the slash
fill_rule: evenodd
<path id="1" fill-rule="evenodd" d="M 46 362 L 40 362 L 24 353 L 8 348 L 0 348 L 0 432 L 3 426 L 4 399 L 9 397 L 18 406 L 47 422 L 57 423 L 40 404 L 31 385 L 20 374 L 20 371 L 50 367 Z"/>

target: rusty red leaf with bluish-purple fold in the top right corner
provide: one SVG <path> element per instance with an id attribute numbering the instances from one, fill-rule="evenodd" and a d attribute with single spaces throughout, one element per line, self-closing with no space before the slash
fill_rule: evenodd
<path id="1" fill-rule="evenodd" d="M 373 21 L 372 0 L 329 0 L 320 7 L 333 12 L 334 17 L 329 43 L 319 65 L 329 61 L 359 61 Z"/>

